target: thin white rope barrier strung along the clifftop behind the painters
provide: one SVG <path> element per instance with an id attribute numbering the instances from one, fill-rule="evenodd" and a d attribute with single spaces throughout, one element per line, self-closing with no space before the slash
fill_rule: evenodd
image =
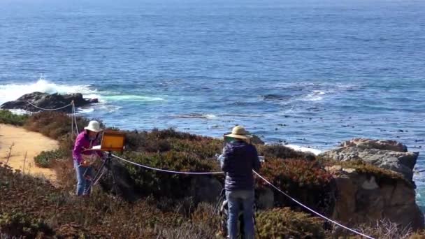
<path id="1" fill-rule="evenodd" d="M 29 103 L 28 101 L 24 101 Z M 31 106 L 34 106 L 32 103 L 29 103 Z M 68 106 L 72 106 L 72 116 L 71 116 L 71 131 L 73 131 L 73 126 L 75 123 L 75 131 L 78 135 L 79 131 L 78 131 L 78 124 L 77 124 L 77 117 L 76 117 L 76 113 L 75 113 L 75 104 L 73 103 L 73 101 L 67 105 L 64 106 L 62 108 L 66 108 Z M 38 106 L 34 106 L 35 108 L 39 108 Z M 44 109 L 44 108 L 39 108 L 41 110 L 61 110 L 62 108 L 57 108 L 57 109 Z M 71 133 L 72 135 L 72 133 Z M 170 170 L 165 170 L 165 169 L 161 169 L 161 168 L 154 168 L 154 167 L 150 167 L 150 166 L 145 166 L 143 164 L 137 164 L 133 161 L 129 161 L 127 159 L 123 159 L 122 157 L 118 157 L 115 154 L 112 154 L 113 157 L 115 157 L 116 159 L 120 159 L 122 161 L 125 161 L 129 164 L 133 164 L 135 166 L 139 166 L 142 168 L 147 168 L 153 171 L 160 171 L 160 172 L 164 172 L 164 173 L 173 173 L 173 174 L 183 174 L 183 175 L 215 175 L 215 174 L 223 174 L 224 172 L 220 171 L 220 172 L 180 172 L 180 171 L 170 171 Z M 264 182 L 266 182 L 267 184 L 269 184 L 271 187 L 273 187 L 274 189 L 278 190 L 281 194 L 283 194 L 284 196 L 287 196 L 287 198 L 291 199 L 291 201 L 294 201 L 295 203 L 297 203 L 298 205 L 301 205 L 303 208 L 309 210 L 310 212 L 314 213 L 315 215 L 322 217 L 323 219 L 325 219 L 328 222 L 331 222 L 333 224 L 336 224 L 340 227 L 342 227 L 343 229 L 347 229 L 348 231 L 351 231 L 352 233 L 356 233 L 359 236 L 363 236 L 365 238 L 369 238 L 369 239 L 375 239 L 371 236 L 367 236 L 366 234 L 360 233 L 359 231 L 356 231 L 354 229 L 350 229 L 347 226 L 344 226 L 343 224 L 340 224 L 339 222 L 334 221 L 333 219 L 330 219 L 324 215 L 321 215 L 319 212 L 316 212 L 315 210 L 312 210 L 311 208 L 308 208 L 308 206 L 304 205 L 303 203 L 297 201 L 295 198 L 292 198 L 291 196 L 289 196 L 289 194 L 286 194 L 284 191 L 280 190 L 278 187 L 276 187 L 274 184 L 272 184 L 271 182 L 269 182 L 268 180 L 266 180 L 266 178 L 264 178 L 263 176 L 261 176 L 259 173 L 257 173 L 256 171 L 252 171 L 255 175 L 257 175 L 259 178 L 261 178 L 261 180 L 264 180 Z"/>

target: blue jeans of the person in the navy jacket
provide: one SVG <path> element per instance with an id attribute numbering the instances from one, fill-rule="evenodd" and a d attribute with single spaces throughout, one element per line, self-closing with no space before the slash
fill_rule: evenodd
<path id="1" fill-rule="evenodd" d="M 254 238 L 254 190 L 226 191 L 227 205 L 229 207 L 229 219 L 227 229 L 229 238 L 238 237 L 238 217 L 243 212 L 243 224 L 245 239 Z"/>

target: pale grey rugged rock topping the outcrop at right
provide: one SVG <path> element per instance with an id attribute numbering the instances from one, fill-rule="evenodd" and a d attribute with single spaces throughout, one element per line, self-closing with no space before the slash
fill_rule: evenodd
<path id="1" fill-rule="evenodd" d="M 320 156 L 337 161 L 361 160 L 380 168 L 401 173 L 412 182 L 418 152 L 407 152 L 408 148 L 392 140 L 368 140 L 354 138 L 346 141 L 343 147 L 330 150 Z"/>

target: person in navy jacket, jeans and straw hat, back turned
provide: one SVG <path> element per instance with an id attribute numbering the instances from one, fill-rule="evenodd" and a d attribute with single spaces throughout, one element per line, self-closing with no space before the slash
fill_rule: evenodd
<path id="1" fill-rule="evenodd" d="M 243 126 L 235 126 L 225 135 L 226 145 L 220 155 L 222 170 L 226 173 L 224 189 L 229 207 L 227 228 L 230 239 L 238 236 L 238 215 L 243 212 L 245 238 L 254 238 L 254 175 L 260 161 L 257 149 L 250 144 L 252 136 Z"/>

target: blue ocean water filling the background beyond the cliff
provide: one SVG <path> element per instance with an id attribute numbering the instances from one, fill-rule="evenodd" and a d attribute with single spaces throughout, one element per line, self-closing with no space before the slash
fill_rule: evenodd
<path id="1" fill-rule="evenodd" d="M 425 1 L 1 0 L 0 12 L 0 103 L 82 92 L 101 103 L 80 114 L 122 129 L 219 137 L 243 124 L 320 150 L 394 139 L 425 167 Z"/>

